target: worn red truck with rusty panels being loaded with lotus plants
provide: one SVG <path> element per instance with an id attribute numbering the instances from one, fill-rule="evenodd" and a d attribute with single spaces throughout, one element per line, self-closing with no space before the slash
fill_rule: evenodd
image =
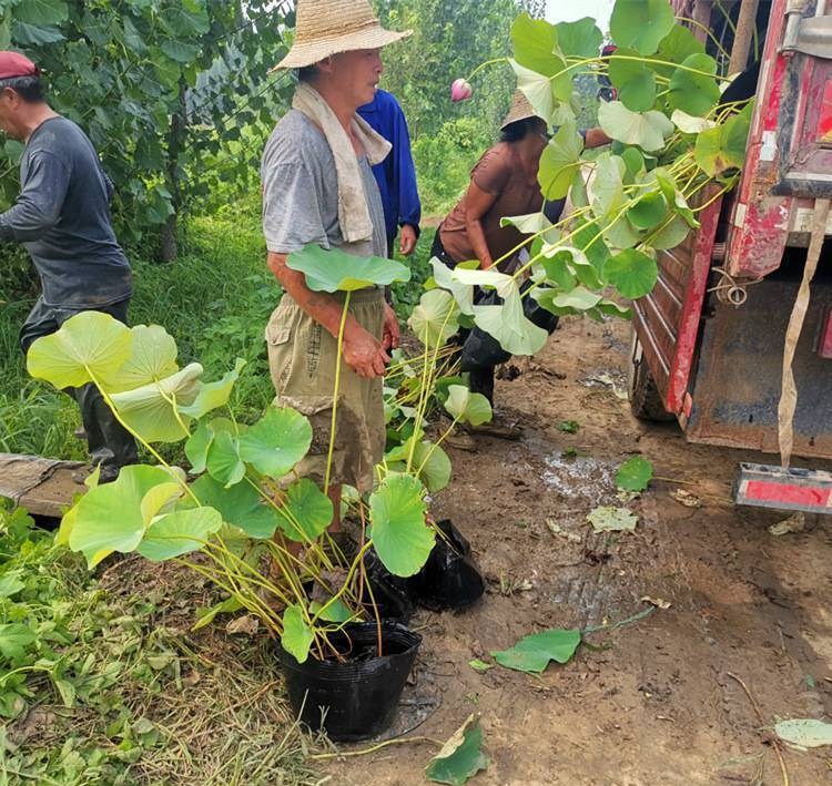
<path id="1" fill-rule="evenodd" d="M 815 202 L 832 197 L 832 16 L 826 0 L 672 4 L 709 53 L 714 39 L 730 53 L 728 73 L 759 78 L 741 181 L 660 253 L 659 282 L 635 304 L 633 412 L 678 419 L 692 442 L 779 452 L 787 325 L 814 232 L 826 237 L 792 365 L 794 455 L 832 459 L 832 220 L 815 226 Z M 745 463 L 735 498 L 829 513 L 832 474 Z"/>

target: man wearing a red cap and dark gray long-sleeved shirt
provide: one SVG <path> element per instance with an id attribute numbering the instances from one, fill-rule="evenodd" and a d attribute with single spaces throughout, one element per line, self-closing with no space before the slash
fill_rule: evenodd
<path id="1" fill-rule="evenodd" d="M 21 193 L 0 213 L 0 241 L 26 246 L 42 286 L 20 331 L 23 353 L 80 312 L 125 321 L 132 274 L 110 220 L 113 185 L 83 131 L 45 102 L 38 68 L 17 52 L 0 51 L 0 131 L 26 144 Z M 133 438 L 94 386 L 69 392 L 101 481 L 115 479 L 138 460 Z"/>

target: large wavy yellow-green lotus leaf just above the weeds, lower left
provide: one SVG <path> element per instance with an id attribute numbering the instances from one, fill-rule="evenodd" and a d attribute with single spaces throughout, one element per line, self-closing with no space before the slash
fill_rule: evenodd
<path id="1" fill-rule="evenodd" d="M 70 549 L 83 552 L 90 568 L 113 551 L 135 551 L 153 518 L 181 492 L 163 469 L 124 467 L 116 480 L 91 489 L 70 511 Z"/>

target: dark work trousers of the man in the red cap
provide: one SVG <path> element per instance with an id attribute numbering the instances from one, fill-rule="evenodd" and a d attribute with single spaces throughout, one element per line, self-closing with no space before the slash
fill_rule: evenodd
<path id="1" fill-rule="evenodd" d="M 81 312 L 102 312 L 126 324 L 129 304 L 130 298 L 126 298 L 109 306 L 95 308 L 55 308 L 45 305 L 42 298 L 38 298 L 34 308 L 32 308 L 20 330 L 20 347 L 23 355 L 29 351 L 29 347 L 35 339 L 55 333 L 63 323 Z M 135 448 L 135 440 L 115 419 L 94 385 L 88 384 L 81 388 L 67 388 L 64 392 L 75 399 L 81 410 L 81 421 L 87 432 L 87 443 L 93 467 L 98 465 L 126 467 L 138 463 L 139 453 Z"/>

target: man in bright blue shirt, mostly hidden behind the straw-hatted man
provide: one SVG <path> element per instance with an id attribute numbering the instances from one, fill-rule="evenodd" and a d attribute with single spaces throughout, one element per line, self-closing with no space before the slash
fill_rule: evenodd
<path id="1" fill-rule="evenodd" d="M 416 169 L 413 165 L 410 132 L 405 113 L 390 93 L 378 90 L 372 103 L 358 108 L 358 114 L 393 145 L 387 159 L 373 167 L 373 174 L 384 204 L 387 255 L 393 256 L 394 242 L 400 226 L 399 252 L 409 256 L 419 236 L 422 203 L 416 188 Z"/>

